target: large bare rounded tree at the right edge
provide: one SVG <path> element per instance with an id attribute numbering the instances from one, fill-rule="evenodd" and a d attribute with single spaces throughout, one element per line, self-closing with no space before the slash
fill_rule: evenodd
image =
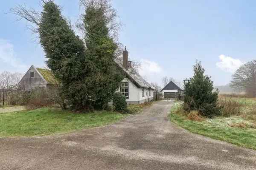
<path id="1" fill-rule="evenodd" d="M 242 65 L 232 77 L 232 88 L 244 90 L 248 96 L 256 96 L 256 60 Z"/>

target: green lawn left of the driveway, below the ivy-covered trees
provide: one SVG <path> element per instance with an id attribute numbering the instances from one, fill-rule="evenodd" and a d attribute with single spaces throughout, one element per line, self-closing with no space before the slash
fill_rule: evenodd
<path id="1" fill-rule="evenodd" d="M 67 133 L 108 125 L 125 116 L 111 111 L 71 113 L 54 108 L 2 113 L 0 136 L 44 136 Z"/>

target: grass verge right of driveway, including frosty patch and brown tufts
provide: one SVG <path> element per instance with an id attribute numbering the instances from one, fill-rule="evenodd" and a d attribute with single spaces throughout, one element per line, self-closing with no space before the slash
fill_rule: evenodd
<path id="1" fill-rule="evenodd" d="M 188 115 L 191 115 L 190 119 Z M 182 103 L 177 102 L 169 117 L 172 122 L 193 133 L 256 150 L 256 122 L 253 120 L 246 120 L 241 116 L 219 116 L 198 122 L 191 120 L 197 118 L 192 115 L 196 113 L 183 111 Z"/>

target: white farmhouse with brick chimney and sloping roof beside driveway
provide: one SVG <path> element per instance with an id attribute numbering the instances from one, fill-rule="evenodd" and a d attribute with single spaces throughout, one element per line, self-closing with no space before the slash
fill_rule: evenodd
<path id="1" fill-rule="evenodd" d="M 122 80 L 118 91 L 126 96 L 127 104 L 142 104 L 153 100 L 154 88 L 132 68 L 126 48 L 123 51 L 122 61 L 116 63 L 125 73 L 126 78 Z"/>

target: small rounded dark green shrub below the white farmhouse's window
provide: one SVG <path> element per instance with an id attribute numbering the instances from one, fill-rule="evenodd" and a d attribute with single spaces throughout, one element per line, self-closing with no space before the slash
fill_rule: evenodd
<path id="1" fill-rule="evenodd" d="M 115 111 L 124 112 L 127 109 L 126 97 L 121 93 L 114 93 L 113 108 Z"/>

